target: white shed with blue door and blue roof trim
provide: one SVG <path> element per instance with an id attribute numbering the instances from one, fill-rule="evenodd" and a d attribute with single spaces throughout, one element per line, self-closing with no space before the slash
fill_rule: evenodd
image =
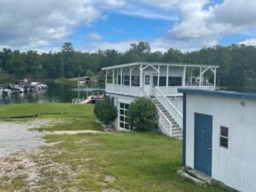
<path id="1" fill-rule="evenodd" d="M 180 89 L 183 166 L 256 191 L 256 94 Z"/>

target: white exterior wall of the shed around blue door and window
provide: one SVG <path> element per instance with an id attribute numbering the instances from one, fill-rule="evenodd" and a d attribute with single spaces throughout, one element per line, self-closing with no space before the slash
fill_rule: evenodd
<path id="1" fill-rule="evenodd" d="M 186 105 L 185 165 L 194 168 L 194 114 L 212 115 L 212 177 L 237 190 L 255 191 L 256 101 L 187 94 Z M 228 149 L 219 146 L 220 126 L 229 127 Z"/>

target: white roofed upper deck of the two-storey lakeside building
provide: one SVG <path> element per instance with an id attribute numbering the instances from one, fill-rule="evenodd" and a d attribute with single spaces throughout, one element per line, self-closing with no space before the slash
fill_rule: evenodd
<path id="1" fill-rule="evenodd" d="M 178 96 L 177 88 L 215 90 L 218 66 L 134 62 L 106 71 L 106 92 L 127 96 Z"/>

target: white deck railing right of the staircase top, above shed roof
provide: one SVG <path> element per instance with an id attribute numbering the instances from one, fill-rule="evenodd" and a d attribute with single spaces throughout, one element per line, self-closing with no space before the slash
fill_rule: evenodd
<path id="1" fill-rule="evenodd" d="M 200 90 L 214 90 L 214 86 L 212 85 L 202 85 L 202 86 L 169 86 L 169 87 L 159 87 L 160 91 L 165 96 L 177 96 L 181 95 L 177 93 L 178 88 L 186 88 L 186 89 L 200 89 Z"/>

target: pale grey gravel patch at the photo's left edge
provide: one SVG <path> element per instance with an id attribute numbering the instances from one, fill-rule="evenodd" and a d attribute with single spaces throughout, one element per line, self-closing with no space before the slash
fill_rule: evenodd
<path id="1" fill-rule="evenodd" d="M 51 119 L 35 119 L 29 123 L 0 122 L 0 157 L 19 151 L 32 150 L 44 143 L 46 132 L 28 131 L 30 128 L 38 128 L 47 125 Z"/>

